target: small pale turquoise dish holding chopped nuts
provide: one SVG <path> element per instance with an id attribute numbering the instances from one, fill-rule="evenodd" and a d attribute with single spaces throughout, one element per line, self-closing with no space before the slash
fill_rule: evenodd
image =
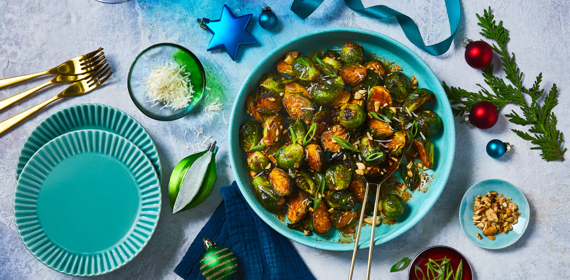
<path id="1" fill-rule="evenodd" d="M 504 197 L 512 198 L 512 202 L 518 206 L 517 211 L 520 212 L 519 221 L 512 225 L 512 230 L 505 234 L 495 234 L 495 240 L 490 240 L 484 236 L 483 231 L 473 225 L 475 197 L 486 196 L 488 192 L 492 191 L 502 193 Z M 475 245 L 485 249 L 503 249 L 514 244 L 523 236 L 528 226 L 528 220 L 530 220 L 530 207 L 527 198 L 516 186 L 503 180 L 484 180 L 471 186 L 463 196 L 459 206 L 459 224 L 461 224 L 463 233 Z M 477 237 L 477 233 L 483 237 L 481 240 Z"/>

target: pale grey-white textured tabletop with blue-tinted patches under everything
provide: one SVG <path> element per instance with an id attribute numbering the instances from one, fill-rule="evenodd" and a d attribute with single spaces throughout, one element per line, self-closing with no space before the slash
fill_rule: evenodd
<path id="1" fill-rule="evenodd" d="M 570 4 L 567 1 L 516 1 L 516 3 L 491 3 L 491 1 L 465 1 L 462 3 L 462 26 L 450 51 L 434 57 L 412 46 L 402 34 L 394 19 L 374 21 L 350 11 L 341 1 L 326 1 L 306 21 L 300 20 L 288 9 L 291 1 L 270 1 L 280 19 L 272 32 L 263 30 L 252 22 L 252 30 L 259 44 L 242 48 L 238 61 L 231 62 L 223 51 L 206 52 L 210 34 L 201 30 L 194 19 L 217 19 L 223 3 L 235 14 L 253 13 L 254 20 L 263 1 L 129 1 L 118 5 L 105 5 L 86 1 L 0 1 L 0 78 L 27 74 L 55 66 L 96 47 L 105 48 L 115 75 L 112 83 L 76 99 L 61 100 L 34 115 L 0 137 L 0 279 L 71 279 L 57 273 L 37 261 L 18 237 L 13 218 L 14 171 L 19 149 L 28 133 L 39 121 L 68 105 L 96 102 L 113 105 L 139 120 L 148 129 L 158 145 L 168 178 L 173 165 L 189 154 L 181 145 L 190 146 L 198 140 L 189 125 L 203 126 L 205 135 L 221 142 L 218 152 L 220 176 L 211 196 L 198 208 L 172 215 L 168 202 L 162 208 L 158 228 L 148 246 L 128 265 L 101 279 L 180 279 L 172 271 L 180 261 L 203 224 L 217 207 L 221 197 L 218 189 L 233 180 L 227 163 L 227 127 L 197 116 L 198 111 L 183 119 L 162 123 L 144 116 L 131 102 L 127 92 L 128 68 L 143 48 L 158 42 L 174 42 L 190 48 L 205 64 L 211 88 L 210 98 L 220 97 L 227 111 L 243 79 L 258 60 L 275 46 L 294 36 L 323 27 L 352 26 L 370 29 L 392 36 L 417 51 L 441 80 L 455 86 L 476 90 L 475 83 L 483 80 L 479 71 L 467 66 L 459 43 L 463 36 L 479 39 L 479 27 L 475 13 L 481 13 L 488 5 L 511 31 L 509 50 L 517 54 L 519 67 L 526 74 L 524 83 L 539 72 L 544 74 L 545 85 L 556 82 L 560 90 L 560 104 L 555 113 L 559 117 L 559 129 L 570 137 L 570 107 L 568 91 L 570 83 L 567 55 L 570 45 Z M 200 1 L 202 2 L 202 1 Z M 374 1 L 365 1 L 368 5 Z M 445 8 L 441 1 L 383 1 L 394 9 L 410 15 L 419 25 L 428 43 L 437 42 L 449 34 Z M 408 3 L 409 2 L 409 3 Z M 547 3 L 548 2 L 548 3 Z M 496 63 L 496 61 L 495 61 Z M 17 94 L 39 80 L 0 90 L 0 98 Z M 24 100 L 2 112 L 2 119 L 55 95 L 62 87 L 43 90 L 34 98 Z M 211 100 L 211 99 L 209 99 Z M 203 107 L 201 107 L 203 108 Z M 510 111 L 510 105 L 503 113 Z M 200 109 L 201 110 L 201 109 Z M 228 116 L 226 116 L 228 119 Z M 539 153 L 531 151 L 530 143 L 517 138 L 510 131 L 516 126 L 502 116 L 498 124 L 488 131 L 465 127 L 457 121 L 457 150 L 454 168 L 441 201 L 409 232 L 374 249 L 373 279 L 406 279 L 405 273 L 388 275 L 389 267 L 402 257 L 413 257 L 420 250 L 432 245 L 448 245 L 467 256 L 477 279 L 567 279 L 570 275 L 568 242 L 570 242 L 570 214 L 568 206 L 568 162 L 546 163 Z M 188 135 L 185 136 L 185 131 Z M 202 136 L 200 136 L 202 137 Z M 516 145 L 514 152 L 499 160 L 491 159 L 484 152 L 487 141 L 502 139 Z M 200 141 L 202 141 L 201 139 Z M 567 145 L 568 147 L 568 145 Z M 527 232 L 515 245 L 503 250 L 484 250 L 465 238 L 457 211 L 463 192 L 470 185 L 486 178 L 501 178 L 512 182 L 526 194 L 532 213 Z M 163 194 L 166 195 L 166 184 Z M 351 252 L 315 250 L 295 244 L 308 266 L 318 279 L 338 279 L 347 275 Z M 367 254 L 362 251 L 357 258 L 355 279 L 364 279 Z"/>

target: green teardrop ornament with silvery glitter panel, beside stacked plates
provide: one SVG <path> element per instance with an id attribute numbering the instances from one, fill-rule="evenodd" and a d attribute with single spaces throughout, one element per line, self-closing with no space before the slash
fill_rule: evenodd
<path id="1" fill-rule="evenodd" d="M 206 151 L 185 157 L 174 167 L 168 184 L 172 213 L 193 208 L 210 195 L 215 182 L 215 144 L 214 141 Z"/>

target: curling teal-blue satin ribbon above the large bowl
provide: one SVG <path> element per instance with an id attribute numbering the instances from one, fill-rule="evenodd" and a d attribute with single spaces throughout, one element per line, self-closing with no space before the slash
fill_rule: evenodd
<path id="1" fill-rule="evenodd" d="M 404 31 L 404 34 L 406 35 L 406 38 L 408 38 L 408 40 L 418 48 L 421 48 L 431 55 L 441 55 L 449 50 L 451 42 L 453 41 L 455 33 L 459 27 L 459 20 L 461 19 L 461 6 L 459 6 L 459 0 L 445 0 L 451 35 L 442 42 L 426 46 L 416 23 L 414 23 L 414 21 L 412 21 L 412 19 L 407 15 L 384 5 L 364 8 L 364 5 L 360 0 L 344 0 L 344 2 L 352 10 L 355 10 L 360 14 L 368 15 L 372 18 L 384 19 L 396 17 L 402 27 L 402 31 Z M 300 18 L 306 19 L 317 9 L 317 7 L 319 7 L 321 3 L 323 3 L 323 0 L 294 0 L 291 4 L 291 11 L 297 14 Z"/>

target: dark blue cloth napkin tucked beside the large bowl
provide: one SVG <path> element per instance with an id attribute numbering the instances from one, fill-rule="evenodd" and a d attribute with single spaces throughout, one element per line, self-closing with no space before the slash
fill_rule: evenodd
<path id="1" fill-rule="evenodd" d="M 220 192 L 222 203 L 198 233 L 174 273 L 186 280 L 204 279 L 200 259 L 206 251 L 202 238 L 208 237 L 238 257 L 238 277 L 235 278 L 315 279 L 290 241 L 270 228 L 247 205 L 235 181 Z"/>

